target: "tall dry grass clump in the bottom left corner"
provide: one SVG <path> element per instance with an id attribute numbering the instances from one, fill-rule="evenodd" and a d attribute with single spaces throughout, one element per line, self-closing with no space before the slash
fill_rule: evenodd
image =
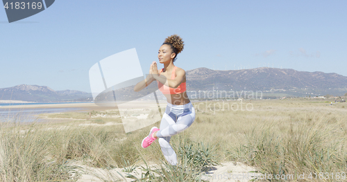
<path id="1" fill-rule="evenodd" d="M 31 125 L 1 123 L 0 181 L 69 181 L 69 167 L 51 160 L 51 136 Z"/>

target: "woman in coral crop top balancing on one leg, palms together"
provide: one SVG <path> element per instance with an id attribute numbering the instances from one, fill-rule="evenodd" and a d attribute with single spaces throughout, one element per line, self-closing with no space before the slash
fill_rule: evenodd
<path id="1" fill-rule="evenodd" d="M 167 98 L 167 109 L 162 116 L 160 129 L 152 127 L 149 136 L 142 140 L 142 147 L 149 147 L 159 138 L 162 154 L 171 165 L 177 165 L 176 153 L 169 144 L 171 136 L 187 129 L 195 119 L 195 109 L 186 92 L 185 71 L 174 65 L 183 46 L 182 38 L 178 35 L 167 37 L 158 51 L 159 62 L 164 64 L 164 68 L 158 72 L 156 62 L 152 62 L 147 78 L 134 87 L 134 91 L 140 91 L 156 80 L 159 90 Z"/>

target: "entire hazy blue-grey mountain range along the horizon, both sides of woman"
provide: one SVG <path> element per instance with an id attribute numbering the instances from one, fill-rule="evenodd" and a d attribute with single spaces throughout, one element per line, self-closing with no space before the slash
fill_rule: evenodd
<path id="1" fill-rule="evenodd" d="M 292 96 L 344 95 L 347 93 L 347 77 L 337 73 L 319 71 L 307 72 L 268 67 L 228 71 L 198 68 L 186 71 L 186 78 L 188 93 L 212 90 L 262 91 L 268 95 L 278 95 L 279 93 Z M 152 84 L 156 84 L 156 82 L 152 82 Z M 128 96 L 132 91 L 133 87 L 124 88 L 120 90 L 120 95 L 124 93 L 123 95 Z M 92 100 L 92 94 L 83 91 L 54 91 L 46 86 L 27 84 L 0 89 L 0 97 L 0 100 L 31 102 Z"/>

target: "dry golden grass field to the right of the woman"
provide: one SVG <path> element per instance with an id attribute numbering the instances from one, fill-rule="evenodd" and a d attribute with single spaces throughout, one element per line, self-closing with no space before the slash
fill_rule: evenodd
<path id="1" fill-rule="evenodd" d="M 238 111 L 222 111 L 223 102 L 213 102 L 211 110 L 201 104 L 198 125 L 189 132 L 194 140 L 217 143 L 226 160 L 253 165 L 264 174 L 346 173 L 347 104 L 329 102 L 303 98 L 244 102 L 244 107 L 253 105 L 251 111 L 242 111 L 241 102 L 233 102 Z"/>

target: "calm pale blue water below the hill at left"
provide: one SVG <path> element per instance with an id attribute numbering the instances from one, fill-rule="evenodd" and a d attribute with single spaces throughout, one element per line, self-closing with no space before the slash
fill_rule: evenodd
<path id="1" fill-rule="evenodd" d="M 38 118 L 40 113 L 62 113 L 67 111 L 78 111 L 83 108 L 79 107 L 60 107 L 60 108 L 3 108 L 1 106 L 12 105 L 33 105 L 33 104 L 71 104 L 71 103 L 89 103 L 89 102 L 32 102 L 32 103 L 1 103 L 0 104 L 0 121 L 12 122 L 33 122 L 43 121 Z"/>

